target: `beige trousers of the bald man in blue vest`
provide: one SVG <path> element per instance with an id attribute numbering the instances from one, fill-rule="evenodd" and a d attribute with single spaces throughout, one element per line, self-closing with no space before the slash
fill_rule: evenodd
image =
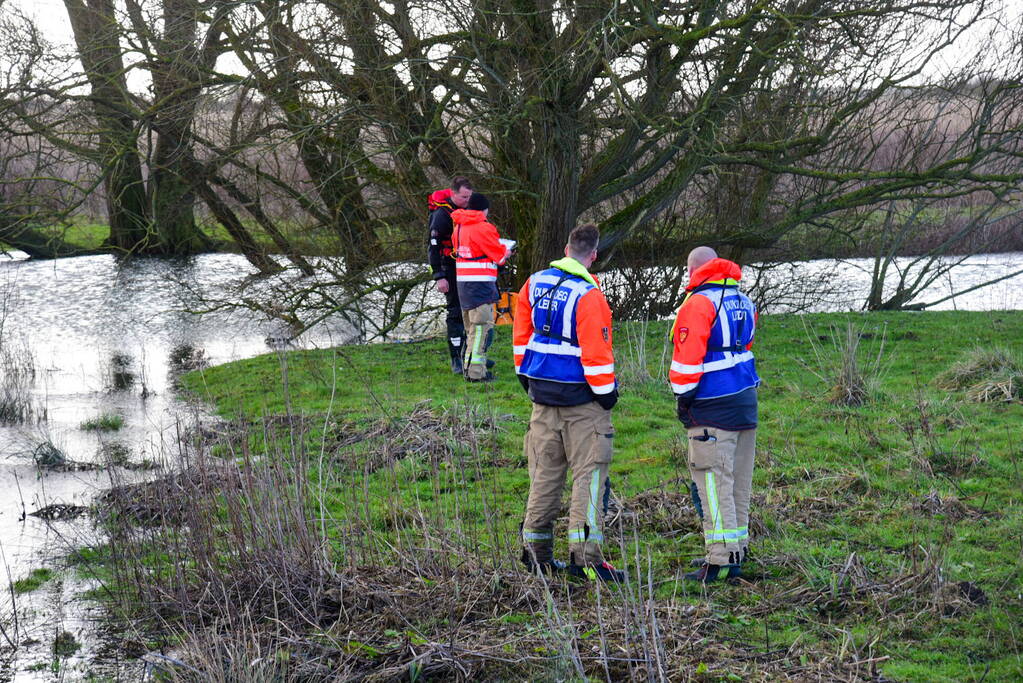
<path id="1" fill-rule="evenodd" d="M 707 562 L 736 564 L 750 544 L 750 490 L 757 430 L 687 429 L 690 475 L 703 507 Z"/>

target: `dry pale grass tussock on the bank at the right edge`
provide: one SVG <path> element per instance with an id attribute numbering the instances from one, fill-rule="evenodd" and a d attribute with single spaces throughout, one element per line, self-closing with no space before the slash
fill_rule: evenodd
<path id="1" fill-rule="evenodd" d="M 972 403 L 1023 401 L 1023 362 L 1007 349 L 974 349 L 935 379 L 939 389 L 966 391 Z"/>

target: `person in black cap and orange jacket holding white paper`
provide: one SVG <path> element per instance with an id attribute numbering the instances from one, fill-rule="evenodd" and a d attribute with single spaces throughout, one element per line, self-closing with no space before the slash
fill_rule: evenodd
<path id="1" fill-rule="evenodd" d="M 451 213 L 451 245 L 466 331 L 464 376 L 469 381 L 494 378 L 488 369 L 492 363 L 487 360 L 487 350 L 494 334 L 494 304 L 500 299 L 497 267 L 511 257 L 511 248 L 500 241 L 497 228 L 487 222 L 489 211 L 490 200 L 476 192 L 464 209 Z"/>

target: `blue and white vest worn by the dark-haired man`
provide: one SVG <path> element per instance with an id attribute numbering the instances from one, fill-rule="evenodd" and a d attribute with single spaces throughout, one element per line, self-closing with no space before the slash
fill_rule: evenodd
<path id="1" fill-rule="evenodd" d="M 593 288 L 586 280 L 557 268 L 530 278 L 533 333 L 523 350 L 521 374 L 549 381 L 586 381 L 575 314 L 579 300 Z"/>

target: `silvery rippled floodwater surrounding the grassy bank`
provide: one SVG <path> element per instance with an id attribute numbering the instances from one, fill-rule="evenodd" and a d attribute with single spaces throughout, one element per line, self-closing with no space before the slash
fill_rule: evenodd
<path id="1" fill-rule="evenodd" d="M 934 301 L 1023 268 L 1023 254 L 972 257 L 924 292 Z M 176 372 L 270 351 L 274 324 L 242 310 L 195 316 L 206 295 L 225 298 L 250 272 L 243 259 L 207 255 L 187 261 L 119 264 L 94 256 L 58 261 L 0 260 L 0 344 L 10 373 L 23 368 L 25 419 L 0 425 L 0 562 L 11 581 L 49 568 L 40 588 L 0 600 L 0 680 L 79 680 L 101 675 L 139 680 L 144 665 L 110 656 L 98 608 L 83 597 L 94 584 L 64 570 L 64 558 L 86 542 L 91 522 L 48 521 L 33 512 L 54 504 L 88 506 L 118 481 L 152 476 L 173 464 L 176 437 L 193 410 L 175 397 Z M 827 280 L 829 298 L 810 310 L 858 307 L 869 283 L 865 261 L 810 262 L 772 277 Z M 805 304 L 805 302 L 804 302 Z M 775 311 L 797 303 L 781 302 Z M 1023 276 L 942 303 L 961 310 L 1023 308 Z M 300 338 L 299 347 L 347 342 L 354 330 L 332 322 Z M 124 426 L 97 431 L 83 425 L 118 416 Z M 80 467 L 47 470 L 36 460 L 49 444 Z M 102 465 L 91 468 L 89 463 Z M 113 463 L 113 464 L 112 464 Z M 38 573 L 37 573 L 38 574 Z M 45 575 L 43 575 L 45 578 Z M 53 642 L 68 632 L 81 645 L 57 657 Z"/>

